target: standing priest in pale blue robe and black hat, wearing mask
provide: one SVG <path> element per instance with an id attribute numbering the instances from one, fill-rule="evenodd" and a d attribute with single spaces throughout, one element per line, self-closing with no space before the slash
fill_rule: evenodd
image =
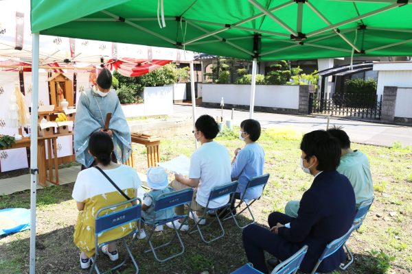
<path id="1" fill-rule="evenodd" d="M 131 151 L 130 129 L 115 90 L 111 89 L 111 72 L 104 68 L 96 79 L 96 86 L 80 94 L 74 122 L 74 150 L 76 160 L 85 167 L 93 165 L 89 153 L 89 138 L 93 132 L 103 131 L 106 114 L 112 117 L 106 131 L 113 139 L 113 160 L 126 162 Z"/>

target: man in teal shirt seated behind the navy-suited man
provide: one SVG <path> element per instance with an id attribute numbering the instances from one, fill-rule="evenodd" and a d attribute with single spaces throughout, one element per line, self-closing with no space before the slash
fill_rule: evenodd
<path id="1" fill-rule="evenodd" d="M 332 128 L 327 132 L 339 140 L 341 145 L 341 163 L 338 166 L 339 173 L 345 175 L 352 184 L 356 198 L 356 208 L 363 202 L 374 197 L 374 186 L 372 184 L 371 169 L 369 160 L 365 154 L 357 149 L 350 148 L 350 138 L 342 129 Z M 285 207 L 285 214 L 297 217 L 299 201 L 288 201 Z"/>

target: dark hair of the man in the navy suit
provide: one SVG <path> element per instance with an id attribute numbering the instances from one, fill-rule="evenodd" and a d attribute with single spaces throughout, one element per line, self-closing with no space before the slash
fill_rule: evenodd
<path id="1" fill-rule="evenodd" d="M 324 130 L 314 130 L 304 135 L 300 149 L 306 153 L 306 161 L 316 156 L 318 171 L 335 171 L 341 162 L 339 142 Z"/>

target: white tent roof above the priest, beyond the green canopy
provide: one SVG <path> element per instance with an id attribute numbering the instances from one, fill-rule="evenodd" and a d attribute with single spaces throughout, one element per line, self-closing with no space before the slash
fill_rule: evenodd
<path id="1" fill-rule="evenodd" d="M 5 0 L 0 1 L 0 56 L 4 60 L 21 60 L 32 62 L 32 35 L 30 31 L 30 1 L 29 0 Z M 16 32 L 16 12 L 23 14 L 23 33 Z M 15 49 L 16 35 L 23 36 L 23 48 Z M 73 46 L 71 51 L 71 46 Z M 148 58 L 150 49 L 152 59 L 190 61 L 193 53 L 176 49 L 159 49 L 147 47 L 146 45 L 130 45 L 89 39 L 70 40 L 59 36 L 41 36 L 40 38 L 40 60 L 41 65 L 59 62 L 62 64 L 69 60 L 71 65 L 80 66 L 88 64 L 101 64 L 100 58 L 108 60 L 111 58 Z"/>

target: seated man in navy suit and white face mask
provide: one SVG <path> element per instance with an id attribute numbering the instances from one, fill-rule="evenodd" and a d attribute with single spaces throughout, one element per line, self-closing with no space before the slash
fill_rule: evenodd
<path id="1" fill-rule="evenodd" d="M 343 236 L 354 221 L 354 189 L 347 177 L 336 171 L 341 158 L 339 142 L 327 132 L 315 130 L 304 135 L 300 149 L 301 169 L 314 180 L 301 198 L 297 218 L 273 212 L 268 216 L 270 230 L 259 225 L 243 229 L 247 258 L 263 273 L 268 273 L 263 251 L 283 261 L 304 245 L 308 245 L 308 253 L 300 270 L 312 271 L 328 242 Z M 344 260 L 341 247 L 323 260 L 317 271 L 333 271 Z"/>

